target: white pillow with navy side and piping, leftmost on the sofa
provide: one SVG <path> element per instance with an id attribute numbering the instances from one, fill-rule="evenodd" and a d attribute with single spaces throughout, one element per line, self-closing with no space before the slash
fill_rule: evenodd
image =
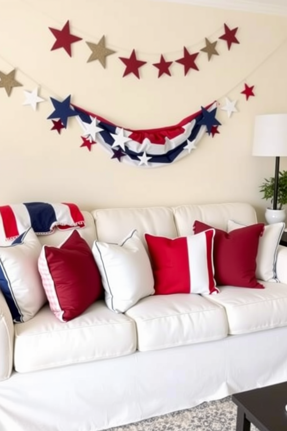
<path id="1" fill-rule="evenodd" d="M 38 271 L 41 250 L 32 228 L 0 247 L 0 289 L 14 322 L 27 322 L 47 300 Z"/>

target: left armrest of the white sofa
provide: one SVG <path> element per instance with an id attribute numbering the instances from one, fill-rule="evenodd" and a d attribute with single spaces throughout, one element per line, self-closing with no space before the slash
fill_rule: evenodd
<path id="1" fill-rule="evenodd" d="M 13 367 L 14 323 L 0 290 L 0 381 L 10 377 Z"/>

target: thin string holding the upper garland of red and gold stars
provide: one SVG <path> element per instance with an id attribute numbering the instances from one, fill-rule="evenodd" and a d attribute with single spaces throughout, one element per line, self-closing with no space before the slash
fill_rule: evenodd
<path id="1" fill-rule="evenodd" d="M 40 13 L 41 15 L 45 16 L 46 18 L 48 18 L 49 20 L 51 20 L 52 22 L 55 22 L 57 25 L 59 25 L 59 28 L 62 28 L 65 25 L 65 22 L 60 21 L 59 19 L 56 19 L 55 17 L 53 17 L 52 15 L 50 15 L 47 12 L 44 12 L 42 9 L 40 9 L 39 7 L 35 6 L 34 3 L 32 4 L 29 0 L 19 0 L 19 3 L 23 4 L 27 4 L 31 9 L 33 9 L 33 11 L 37 11 L 38 13 Z M 39 2 L 37 3 L 39 4 Z M 73 30 L 76 31 L 76 35 L 79 35 L 79 37 L 83 36 L 83 39 L 89 39 L 89 41 L 93 40 L 95 41 L 97 39 L 97 41 L 100 40 L 101 36 L 95 36 L 94 34 L 90 34 L 87 33 L 85 31 L 83 31 L 80 28 L 77 28 L 73 25 Z M 214 41 L 215 39 L 218 39 L 219 36 L 222 35 L 222 31 L 223 31 L 223 25 L 218 28 L 217 30 L 213 31 L 213 33 L 209 34 L 208 36 L 206 36 L 206 38 L 210 41 Z M 194 48 L 194 51 L 198 51 L 203 47 L 205 44 L 205 38 L 201 39 L 200 41 L 197 41 L 195 44 L 186 44 L 185 47 L 187 47 L 189 50 L 191 50 L 192 48 Z M 108 47 L 111 48 L 112 50 L 117 51 L 124 51 L 124 52 L 131 52 L 132 49 L 131 48 L 126 48 L 126 47 L 120 47 L 118 45 L 112 45 L 110 43 L 108 43 Z M 180 55 L 180 53 L 182 53 L 183 48 L 181 47 L 180 50 L 176 50 L 176 51 L 164 51 L 164 55 L 166 56 L 172 56 L 172 55 Z M 162 52 L 157 52 L 157 53 L 151 53 L 151 52 L 145 52 L 140 50 L 140 53 L 143 54 L 144 56 L 160 56 L 160 54 L 162 54 Z"/>

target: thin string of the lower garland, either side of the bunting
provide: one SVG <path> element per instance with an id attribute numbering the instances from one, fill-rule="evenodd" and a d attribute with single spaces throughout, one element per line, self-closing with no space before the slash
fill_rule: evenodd
<path id="1" fill-rule="evenodd" d="M 27 1 L 27 0 L 21 0 L 21 1 Z M 267 62 L 275 53 L 277 53 L 278 50 L 280 50 L 281 47 L 284 46 L 284 44 L 286 44 L 287 42 L 287 37 L 285 37 L 283 39 L 283 41 L 281 41 L 277 47 L 275 47 L 274 50 L 272 50 L 268 56 L 266 56 L 261 62 L 259 62 L 259 64 L 257 66 L 255 66 L 247 75 L 245 75 L 245 77 L 243 79 L 241 79 L 240 81 L 238 81 L 233 87 L 231 87 L 228 92 L 226 92 L 225 94 L 222 94 L 220 97 L 217 97 L 216 100 L 222 99 L 223 97 L 227 97 L 228 94 L 230 94 L 232 91 L 234 91 L 237 87 L 239 87 L 241 84 L 244 83 L 244 81 L 246 81 L 248 78 L 250 78 L 251 75 L 253 75 L 254 72 L 256 72 L 256 70 L 258 70 L 265 62 Z M 46 84 L 40 84 L 39 81 L 36 81 L 31 75 L 29 75 L 28 73 L 24 72 L 22 69 L 14 66 L 14 64 L 12 62 L 10 62 L 8 59 L 4 58 L 1 54 L 0 54 L 0 59 L 2 59 L 4 62 L 6 62 L 10 67 L 12 67 L 12 69 L 16 69 L 17 71 L 19 71 L 20 73 L 22 73 L 23 76 L 25 76 L 26 78 L 28 78 L 30 81 L 34 82 L 34 84 L 37 85 L 37 87 L 43 88 L 44 90 L 46 90 L 49 94 L 52 94 L 55 98 L 58 99 L 62 99 L 61 96 L 59 96 L 59 94 L 56 94 L 51 88 L 49 88 L 48 86 L 46 86 Z M 185 77 L 186 78 L 186 77 Z"/>

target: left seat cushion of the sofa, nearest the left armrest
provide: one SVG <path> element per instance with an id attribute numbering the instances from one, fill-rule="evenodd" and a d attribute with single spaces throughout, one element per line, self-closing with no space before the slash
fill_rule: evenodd
<path id="1" fill-rule="evenodd" d="M 113 358 L 135 350 L 135 323 L 109 310 L 102 300 L 70 322 L 60 322 L 47 305 L 29 322 L 15 325 L 18 372 Z"/>

